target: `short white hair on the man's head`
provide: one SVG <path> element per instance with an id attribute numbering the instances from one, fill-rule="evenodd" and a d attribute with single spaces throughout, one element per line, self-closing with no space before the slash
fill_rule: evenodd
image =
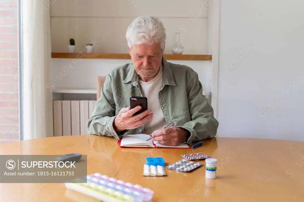
<path id="1" fill-rule="evenodd" d="M 128 27 L 126 39 L 130 49 L 132 49 L 132 45 L 159 43 L 163 51 L 166 29 L 157 17 L 141 16 L 134 19 Z"/>

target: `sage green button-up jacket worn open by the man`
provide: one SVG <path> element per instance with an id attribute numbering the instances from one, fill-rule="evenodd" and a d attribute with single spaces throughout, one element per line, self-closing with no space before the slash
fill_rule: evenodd
<path id="1" fill-rule="evenodd" d="M 172 122 L 188 130 L 187 143 L 216 136 L 218 121 L 213 109 L 202 94 L 197 73 L 188 66 L 162 59 L 163 86 L 158 94 L 166 124 Z M 87 123 L 88 134 L 112 136 L 121 139 L 126 134 L 140 134 L 144 125 L 116 133 L 113 121 L 120 109 L 130 105 L 130 96 L 143 96 L 133 63 L 119 66 L 109 72 L 101 89 L 101 97 Z"/>

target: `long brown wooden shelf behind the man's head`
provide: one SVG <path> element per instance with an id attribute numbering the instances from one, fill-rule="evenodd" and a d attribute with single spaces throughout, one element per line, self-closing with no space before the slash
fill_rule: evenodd
<path id="1" fill-rule="evenodd" d="M 131 59 L 128 53 L 66 53 L 53 52 L 52 58 L 80 58 L 83 59 Z M 173 55 L 164 54 L 167 60 L 211 60 L 211 55 Z"/>

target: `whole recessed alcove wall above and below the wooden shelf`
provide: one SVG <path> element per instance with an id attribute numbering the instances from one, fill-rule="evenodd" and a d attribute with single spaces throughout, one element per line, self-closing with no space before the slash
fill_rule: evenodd
<path id="1" fill-rule="evenodd" d="M 165 54 L 171 54 L 175 32 L 182 33 L 184 54 L 211 54 L 208 7 L 206 0 L 192 0 L 191 3 L 184 0 L 56 1 L 51 5 L 52 52 L 67 52 L 69 39 L 74 38 L 77 53 L 94 39 L 98 41 L 95 52 L 128 53 L 127 27 L 140 15 L 155 15 L 161 18 L 166 29 Z M 97 76 L 106 76 L 115 67 L 131 62 L 125 59 L 81 59 L 74 64 L 72 61 L 52 58 L 49 82 L 55 89 L 95 89 Z M 211 79 L 211 61 L 169 62 L 190 66 L 198 72 L 203 86 Z"/>

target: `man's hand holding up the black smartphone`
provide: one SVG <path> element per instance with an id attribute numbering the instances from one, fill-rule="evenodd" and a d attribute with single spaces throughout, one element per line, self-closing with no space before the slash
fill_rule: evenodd
<path id="1" fill-rule="evenodd" d="M 122 130 L 130 130 L 138 128 L 147 123 L 152 117 L 153 112 L 150 109 L 133 116 L 134 113 L 139 111 L 141 106 L 136 106 L 133 109 L 131 107 L 122 108 L 118 115 L 114 119 L 113 127 L 116 132 Z"/>

